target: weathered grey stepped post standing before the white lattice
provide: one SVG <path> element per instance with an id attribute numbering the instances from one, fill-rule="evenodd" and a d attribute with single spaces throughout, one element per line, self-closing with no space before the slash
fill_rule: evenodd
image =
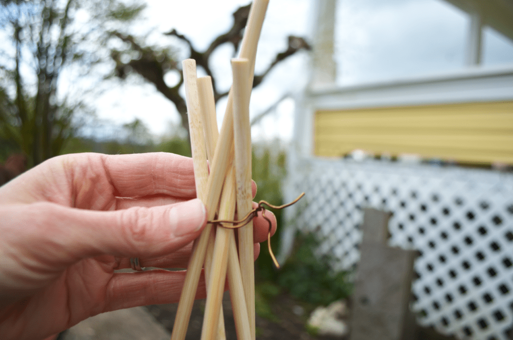
<path id="1" fill-rule="evenodd" d="M 415 331 L 408 305 L 418 252 L 388 247 L 389 218 L 388 212 L 364 209 L 351 340 L 407 340 Z"/>

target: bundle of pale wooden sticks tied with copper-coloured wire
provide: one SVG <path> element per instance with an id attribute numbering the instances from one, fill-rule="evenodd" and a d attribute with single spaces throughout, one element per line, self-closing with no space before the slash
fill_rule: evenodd
<path id="1" fill-rule="evenodd" d="M 234 220 L 252 209 L 251 135 L 249 97 L 257 43 L 269 0 L 255 0 L 251 7 L 238 59 L 232 59 L 233 84 L 218 131 L 210 77 L 196 77 L 192 59 L 183 62 L 196 194 L 207 206 L 208 220 Z M 210 172 L 207 167 L 210 162 Z M 237 247 L 233 229 L 208 223 L 196 239 L 171 339 L 183 340 L 202 268 L 207 300 L 202 340 L 224 339 L 222 298 L 226 277 L 230 286 L 238 339 L 255 338 L 254 265 L 252 223 L 239 229 Z M 239 248 L 239 251 L 238 251 Z"/>

